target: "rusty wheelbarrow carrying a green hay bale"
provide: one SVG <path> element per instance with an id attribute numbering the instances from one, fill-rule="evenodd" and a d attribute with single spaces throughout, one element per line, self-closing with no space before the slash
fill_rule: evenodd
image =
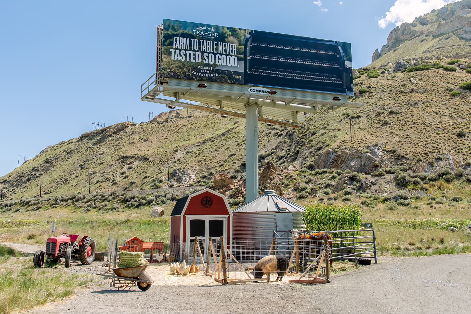
<path id="1" fill-rule="evenodd" d="M 132 266 L 123 268 L 113 268 L 113 273 L 106 272 L 106 274 L 98 274 L 103 277 L 113 278 L 118 280 L 118 290 L 130 289 L 137 284 L 138 288 L 146 291 L 154 283 L 149 274 L 146 273 L 146 268 L 149 265 Z"/>

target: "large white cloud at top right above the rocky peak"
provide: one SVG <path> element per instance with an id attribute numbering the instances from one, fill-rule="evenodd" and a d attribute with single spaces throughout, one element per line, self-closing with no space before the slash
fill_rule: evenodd
<path id="1" fill-rule="evenodd" d="M 417 16 L 429 13 L 433 9 L 441 8 L 448 3 L 458 0 L 397 0 L 386 12 L 386 17 L 378 21 L 378 26 L 385 28 L 388 24 L 400 25 L 404 22 L 411 23 Z"/>

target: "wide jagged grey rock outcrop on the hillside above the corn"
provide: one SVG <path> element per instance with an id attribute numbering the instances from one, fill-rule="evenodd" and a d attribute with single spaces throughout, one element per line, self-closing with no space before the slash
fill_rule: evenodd
<path id="1" fill-rule="evenodd" d="M 316 169 L 340 169 L 345 171 L 350 169 L 355 172 L 370 174 L 382 167 L 388 167 L 389 158 L 382 150 L 382 144 L 379 146 L 368 147 L 370 153 L 362 153 L 357 149 L 342 149 L 339 152 L 329 148 L 317 156 L 315 163 Z"/>

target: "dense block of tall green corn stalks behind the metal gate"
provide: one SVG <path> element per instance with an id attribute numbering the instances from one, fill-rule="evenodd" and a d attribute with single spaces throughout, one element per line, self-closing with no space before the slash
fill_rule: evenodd
<path id="1" fill-rule="evenodd" d="M 357 230 L 361 228 L 361 211 L 356 205 L 307 205 L 303 221 L 310 231 Z"/>

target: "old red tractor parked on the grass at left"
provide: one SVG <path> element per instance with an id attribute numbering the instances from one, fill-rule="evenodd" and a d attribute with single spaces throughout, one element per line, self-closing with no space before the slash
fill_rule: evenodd
<path id="1" fill-rule="evenodd" d="M 34 253 L 33 265 L 42 267 L 44 259 L 58 263 L 61 258 L 65 258 L 65 267 L 70 266 L 71 259 L 79 259 L 82 265 L 90 265 L 95 258 L 95 240 L 85 235 L 77 243 L 78 234 L 62 233 L 57 237 L 49 238 L 46 242 L 46 250 L 37 250 Z"/>

